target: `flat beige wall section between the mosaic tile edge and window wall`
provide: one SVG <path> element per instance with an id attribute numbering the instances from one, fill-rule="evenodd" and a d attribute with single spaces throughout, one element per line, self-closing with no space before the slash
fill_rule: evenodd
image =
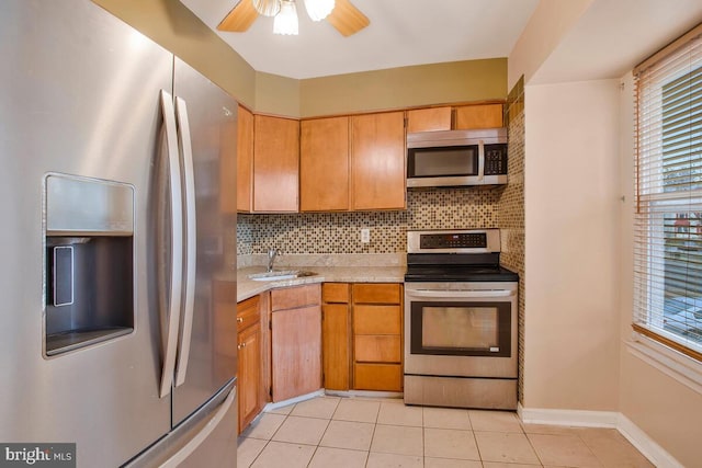
<path id="1" fill-rule="evenodd" d="M 525 87 L 528 409 L 619 409 L 619 81 Z"/>

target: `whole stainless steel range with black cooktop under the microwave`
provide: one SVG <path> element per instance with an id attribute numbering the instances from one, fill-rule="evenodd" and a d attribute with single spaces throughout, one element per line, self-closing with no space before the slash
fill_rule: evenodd
<path id="1" fill-rule="evenodd" d="M 405 403 L 517 408 L 518 275 L 499 229 L 407 232 Z"/>

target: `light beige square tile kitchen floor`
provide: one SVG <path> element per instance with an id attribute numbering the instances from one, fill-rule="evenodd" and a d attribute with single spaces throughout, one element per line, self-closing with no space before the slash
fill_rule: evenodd
<path id="1" fill-rule="evenodd" d="M 239 437 L 237 458 L 238 468 L 653 467 L 615 430 L 331 396 L 263 413 Z"/>

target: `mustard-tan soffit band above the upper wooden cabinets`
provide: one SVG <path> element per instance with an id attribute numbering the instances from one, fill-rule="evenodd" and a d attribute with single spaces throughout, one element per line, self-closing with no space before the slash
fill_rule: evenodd
<path id="1" fill-rule="evenodd" d="M 307 117 L 507 98 L 507 59 L 295 80 L 253 70 L 181 2 L 93 0 L 264 114 Z"/>

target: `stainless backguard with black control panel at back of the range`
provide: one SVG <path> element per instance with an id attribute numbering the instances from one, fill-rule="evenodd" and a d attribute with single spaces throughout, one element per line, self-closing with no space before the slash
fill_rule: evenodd
<path id="1" fill-rule="evenodd" d="M 499 229 L 407 231 L 407 253 L 486 253 L 499 251 Z"/>

